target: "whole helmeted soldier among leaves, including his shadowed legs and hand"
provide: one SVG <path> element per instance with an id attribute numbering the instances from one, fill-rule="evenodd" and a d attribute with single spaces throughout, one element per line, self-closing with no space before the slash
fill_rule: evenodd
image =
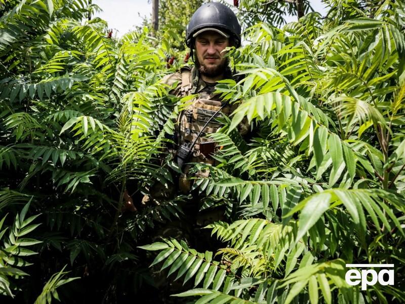
<path id="1" fill-rule="evenodd" d="M 216 118 L 221 115 L 229 116 L 234 110 L 234 106 L 222 102 L 219 94 L 213 92 L 219 80 L 240 80 L 230 70 L 224 51 L 230 46 L 240 46 L 240 25 L 235 14 L 221 3 L 211 2 L 201 6 L 192 15 L 187 26 L 186 44 L 195 65 L 192 68 L 184 66 L 162 81 L 169 86 L 178 83 L 171 91 L 174 95 L 197 95 L 180 113 L 175 124 L 176 161 L 183 172 L 178 179 L 178 187 L 181 192 L 189 194 L 193 176 L 189 173 L 188 163 L 215 165 L 212 158 L 216 149 L 215 142 L 207 135 L 220 128 Z M 248 129 L 247 121 L 239 124 L 242 135 Z M 208 171 L 200 171 L 198 174 L 208 176 Z M 142 202 L 147 204 L 152 199 L 158 204 L 160 200 L 173 198 L 175 189 L 163 187 L 155 184 L 149 191 L 150 196 L 144 196 Z M 193 202 L 182 206 L 185 218 L 167 223 L 157 231 L 156 236 L 183 238 L 195 245 L 198 242 L 192 240 L 201 237 L 201 227 L 224 218 L 224 209 L 221 208 L 198 212 L 200 200 L 195 192 L 192 195 Z M 208 231 L 207 234 L 205 237 L 210 238 Z"/>

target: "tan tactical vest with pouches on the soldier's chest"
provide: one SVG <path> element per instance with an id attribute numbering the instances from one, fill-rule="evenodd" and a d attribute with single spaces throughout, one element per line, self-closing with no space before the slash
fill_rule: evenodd
<path id="1" fill-rule="evenodd" d="M 181 95 L 191 95 L 193 84 L 191 80 L 190 69 L 181 70 L 182 84 Z M 219 112 L 217 112 L 223 103 L 219 100 L 215 100 L 214 94 L 207 92 L 198 93 L 198 97 L 194 98 L 189 106 L 183 110 L 177 121 L 178 134 L 180 144 L 183 142 L 192 142 L 198 137 L 198 133 L 204 128 L 207 121 L 214 116 L 213 119 L 204 128 L 201 135 L 197 138 L 194 146 L 193 160 L 191 162 L 205 162 L 213 164 L 212 154 L 215 150 L 215 142 L 212 138 L 208 138 L 206 135 L 216 133 L 221 125 L 216 121 L 217 117 L 220 117 L 222 113 L 229 116 L 231 113 L 231 106 L 226 104 Z M 215 112 L 217 112 L 215 114 Z"/>

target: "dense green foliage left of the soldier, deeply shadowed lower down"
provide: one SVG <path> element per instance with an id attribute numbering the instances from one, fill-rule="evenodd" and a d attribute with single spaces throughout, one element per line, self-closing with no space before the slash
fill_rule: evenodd
<path id="1" fill-rule="evenodd" d="M 42 254 L 33 264 L 45 271 L 31 274 L 36 284 L 20 275 L 18 300 L 35 299 L 55 272 L 38 302 L 58 298 L 56 288 L 67 282 L 59 270 L 68 263 L 74 277 L 98 280 L 106 270 L 115 280 L 139 280 L 141 270 L 124 267 L 138 261 L 131 244 L 178 217 L 185 200 L 147 206 L 135 217 L 128 211 L 142 207 L 141 193 L 156 180 L 173 182 L 159 156 L 166 133 L 173 134 L 168 118 L 182 103 L 157 83 L 168 72 L 171 45 L 156 47 L 146 29 L 109 39 L 105 21 L 87 20 L 97 10 L 87 1 L 0 3 L 0 208 L 16 214 L 14 205 L 33 196 L 43 214 L 42 243 L 33 244 Z M 174 41 L 170 35 L 163 34 L 166 42 Z M 75 301 L 66 288 L 58 288 L 61 301 Z M 104 292 L 100 301 L 120 293 Z"/>

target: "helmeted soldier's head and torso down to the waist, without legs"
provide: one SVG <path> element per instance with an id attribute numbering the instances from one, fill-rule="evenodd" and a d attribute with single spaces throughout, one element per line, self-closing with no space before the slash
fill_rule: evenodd
<path id="1" fill-rule="evenodd" d="M 224 51 L 226 47 L 240 46 L 240 25 L 235 14 L 221 3 L 211 2 L 201 6 L 187 26 L 186 45 L 190 48 L 190 57 L 195 65 L 192 68 L 184 66 L 163 80 L 168 85 L 178 82 L 173 91 L 177 96 L 198 94 L 191 105 L 180 113 L 175 129 L 177 163 L 183 171 L 179 178 L 179 188 L 183 193 L 189 192 L 191 181 L 190 176 L 187 176 L 189 166 L 185 164 L 204 162 L 214 165 L 212 153 L 215 143 L 206 135 L 219 129 L 220 124 L 216 118 L 221 113 L 230 115 L 234 109 L 221 102 L 213 92 L 219 80 L 239 80 L 233 76 Z M 247 131 L 246 123 L 239 125 L 242 135 Z"/>

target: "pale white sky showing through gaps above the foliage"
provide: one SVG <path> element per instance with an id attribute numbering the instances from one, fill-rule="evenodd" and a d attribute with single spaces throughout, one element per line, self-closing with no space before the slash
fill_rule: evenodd
<path id="1" fill-rule="evenodd" d="M 232 0 L 226 2 L 233 4 Z M 325 5 L 321 0 L 310 0 L 310 3 L 315 11 L 326 14 Z M 95 16 L 106 20 L 108 27 L 113 29 L 113 35 L 117 37 L 134 29 L 134 26 L 141 25 L 142 16 L 151 18 L 152 2 L 148 0 L 93 0 L 93 4 L 103 10 Z M 296 20 L 296 17 L 291 16 L 286 20 L 290 22 Z"/>

